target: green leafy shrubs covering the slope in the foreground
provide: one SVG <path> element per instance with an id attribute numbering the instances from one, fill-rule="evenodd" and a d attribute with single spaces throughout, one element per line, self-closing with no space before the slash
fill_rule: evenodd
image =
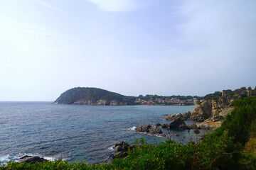
<path id="1" fill-rule="evenodd" d="M 141 139 L 126 159 L 116 158 L 110 164 L 10 162 L 0 169 L 256 169 L 255 150 L 250 150 L 255 148 L 256 97 L 233 101 L 232 105 L 235 109 L 223 125 L 201 142 L 181 145 L 166 140 L 150 145 Z"/>

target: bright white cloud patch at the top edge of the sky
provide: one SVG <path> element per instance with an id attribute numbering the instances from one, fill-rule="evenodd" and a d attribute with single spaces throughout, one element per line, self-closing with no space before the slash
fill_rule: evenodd
<path id="1" fill-rule="evenodd" d="M 87 0 L 97 5 L 103 11 L 123 12 L 134 11 L 139 8 L 139 4 L 134 0 Z"/>

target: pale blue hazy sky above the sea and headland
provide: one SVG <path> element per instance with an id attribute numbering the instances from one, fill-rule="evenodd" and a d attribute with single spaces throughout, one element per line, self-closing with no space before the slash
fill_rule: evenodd
<path id="1" fill-rule="evenodd" d="M 256 86 L 255 0 L 0 0 L 0 101 Z"/>

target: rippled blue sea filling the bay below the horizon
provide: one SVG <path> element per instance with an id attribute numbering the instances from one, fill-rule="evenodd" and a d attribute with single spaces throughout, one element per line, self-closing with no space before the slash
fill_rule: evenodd
<path id="1" fill-rule="evenodd" d="M 193 111 L 195 106 L 86 106 L 52 102 L 0 102 L 0 162 L 24 155 L 48 160 L 110 162 L 120 141 L 144 138 L 157 145 L 167 139 L 198 140 L 186 130 L 163 130 L 167 137 L 135 132 L 138 125 L 169 123 L 165 114 Z M 202 132 L 203 133 L 203 132 Z M 177 135 L 178 134 L 178 135 Z"/>

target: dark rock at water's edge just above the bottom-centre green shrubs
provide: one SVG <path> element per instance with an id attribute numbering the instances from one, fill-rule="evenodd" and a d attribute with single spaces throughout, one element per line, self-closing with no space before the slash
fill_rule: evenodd
<path id="1" fill-rule="evenodd" d="M 134 149 L 134 145 L 130 146 L 129 144 L 127 144 L 127 142 L 118 142 L 114 145 L 113 149 L 115 154 L 111 154 L 110 157 L 111 158 L 115 158 L 115 157 L 127 157 L 128 156 L 128 150 L 132 150 Z"/>

